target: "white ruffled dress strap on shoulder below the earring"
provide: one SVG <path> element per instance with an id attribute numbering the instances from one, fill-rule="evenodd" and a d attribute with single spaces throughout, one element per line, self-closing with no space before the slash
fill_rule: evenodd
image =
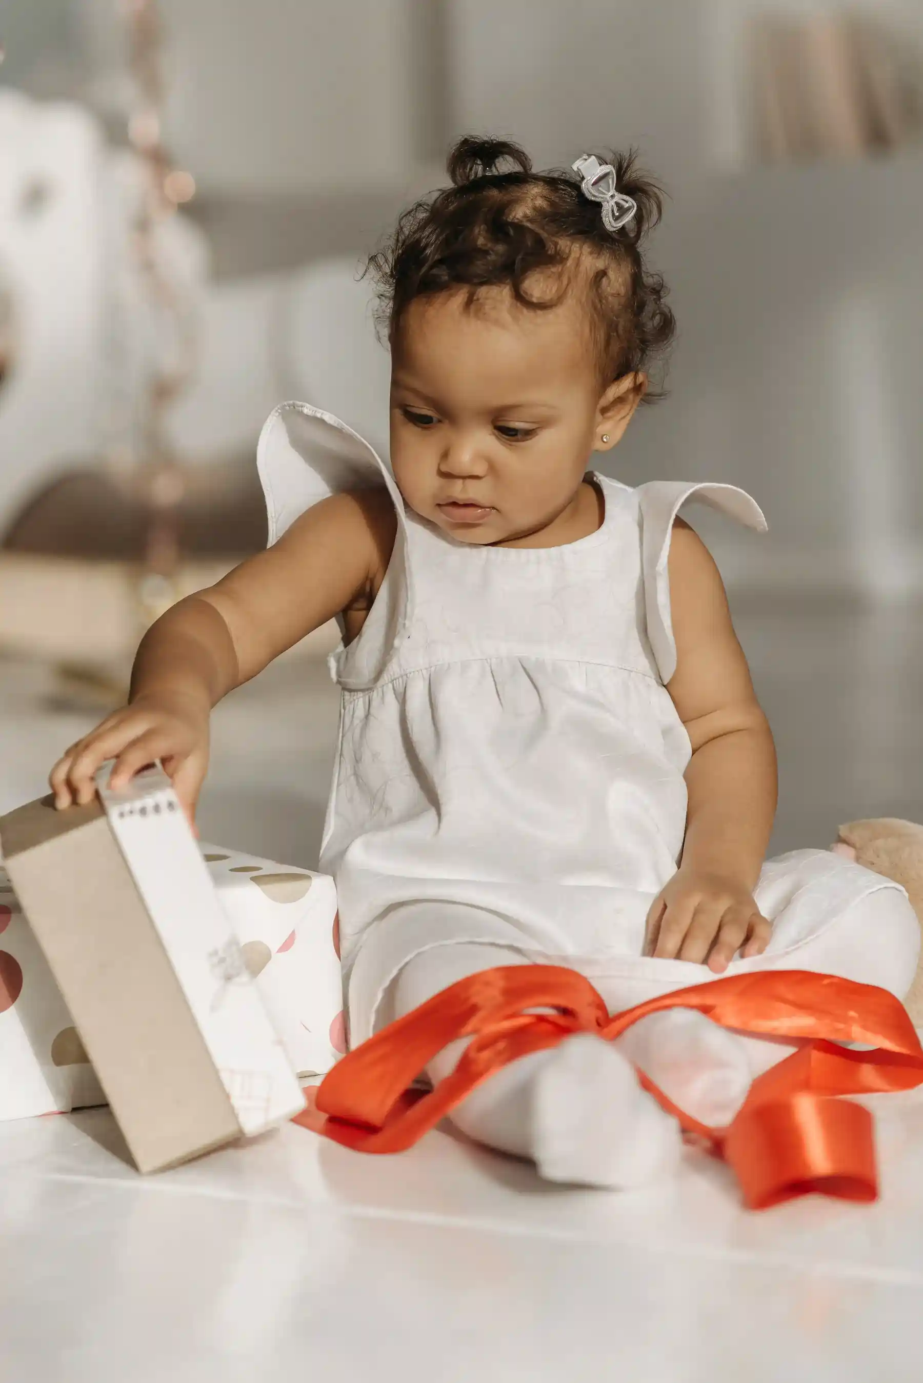
<path id="1" fill-rule="evenodd" d="M 689 484 L 684 480 L 655 480 L 638 487 L 641 512 L 641 556 L 643 568 L 648 642 L 660 679 L 667 685 L 677 671 L 677 644 L 670 613 L 670 542 L 677 514 L 685 503 L 697 501 L 736 519 L 756 532 L 767 531 L 767 521 L 756 499 L 736 485 Z"/>

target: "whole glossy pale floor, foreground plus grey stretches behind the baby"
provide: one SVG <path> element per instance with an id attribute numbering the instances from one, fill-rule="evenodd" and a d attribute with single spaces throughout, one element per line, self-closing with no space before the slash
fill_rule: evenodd
<path id="1" fill-rule="evenodd" d="M 923 820 L 916 610 L 749 609 L 776 729 L 775 846 Z M 0 809 L 84 718 L 0 664 Z M 216 716 L 209 838 L 310 864 L 335 696 L 291 658 Z M 3 1383 L 899 1383 L 923 1353 L 923 1093 L 879 1098 L 881 1200 L 747 1214 L 725 1170 L 549 1189 L 435 1133 L 400 1158 L 286 1127 L 159 1177 L 105 1111 L 0 1124 Z"/>

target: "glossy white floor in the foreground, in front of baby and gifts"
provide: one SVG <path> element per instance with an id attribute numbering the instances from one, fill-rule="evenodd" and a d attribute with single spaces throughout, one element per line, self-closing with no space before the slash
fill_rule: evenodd
<path id="1" fill-rule="evenodd" d="M 881 1097 L 879 1097 L 880 1099 Z M 923 1097 L 883 1199 L 743 1212 L 548 1189 L 441 1133 L 363 1158 L 295 1126 L 141 1180 L 105 1111 L 0 1130 L 10 1383 L 898 1383 L 923 1344 Z"/>

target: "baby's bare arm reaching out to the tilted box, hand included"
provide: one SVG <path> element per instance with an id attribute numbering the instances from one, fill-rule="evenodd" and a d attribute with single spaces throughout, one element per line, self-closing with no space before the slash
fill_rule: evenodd
<path id="1" fill-rule="evenodd" d="M 115 759 L 119 787 L 162 759 L 190 817 L 208 769 L 209 714 L 313 629 L 368 609 L 387 567 L 396 519 L 385 491 L 333 495 L 267 552 L 181 600 L 138 649 L 129 705 L 71 745 L 51 772 L 57 806 L 90 802 Z"/>

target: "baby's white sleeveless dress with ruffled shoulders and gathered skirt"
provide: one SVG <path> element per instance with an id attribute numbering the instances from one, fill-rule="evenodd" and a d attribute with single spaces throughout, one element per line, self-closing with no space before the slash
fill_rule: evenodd
<path id="1" fill-rule="evenodd" d="M 682 851 L 691 758 L 664 687 L 667 557 L 684 502 L 761 531 L 754 501 L 595 476 L 605 519 L 590 537 L 469 546 L 408 512 L 372 448 L 306 404 L 270 416 L 259 467 L 270 542 L 343 490 L 385 485 L 399 519 L 365 625 L 331 658 L 342 712 L 320 864 L 336 880 L 351 1043 L 397 971 L 437 945 L 512 946 L 603 976 L 610 1007 L 714 978 L 642 956 Z M 851 904 L 895 887 L 826 851 L 768 862 L 756 896 L 771 945 L 729 974 L 833 968 L 805 964 L 805 947 L 823 938 L 834 954 Z"/>

